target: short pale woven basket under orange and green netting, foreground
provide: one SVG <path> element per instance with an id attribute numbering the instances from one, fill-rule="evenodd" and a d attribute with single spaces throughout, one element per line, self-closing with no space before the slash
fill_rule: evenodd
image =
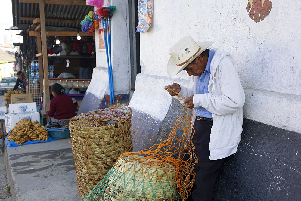
<path id="1" fill-rule="evenodd" d="M 163 166 L 155 162 L 156 159 L 145 159 L 143 156 L 121 156 L 108 178 L 103 199 L 176 200 L 175 169 L 168 163 Z"/>

